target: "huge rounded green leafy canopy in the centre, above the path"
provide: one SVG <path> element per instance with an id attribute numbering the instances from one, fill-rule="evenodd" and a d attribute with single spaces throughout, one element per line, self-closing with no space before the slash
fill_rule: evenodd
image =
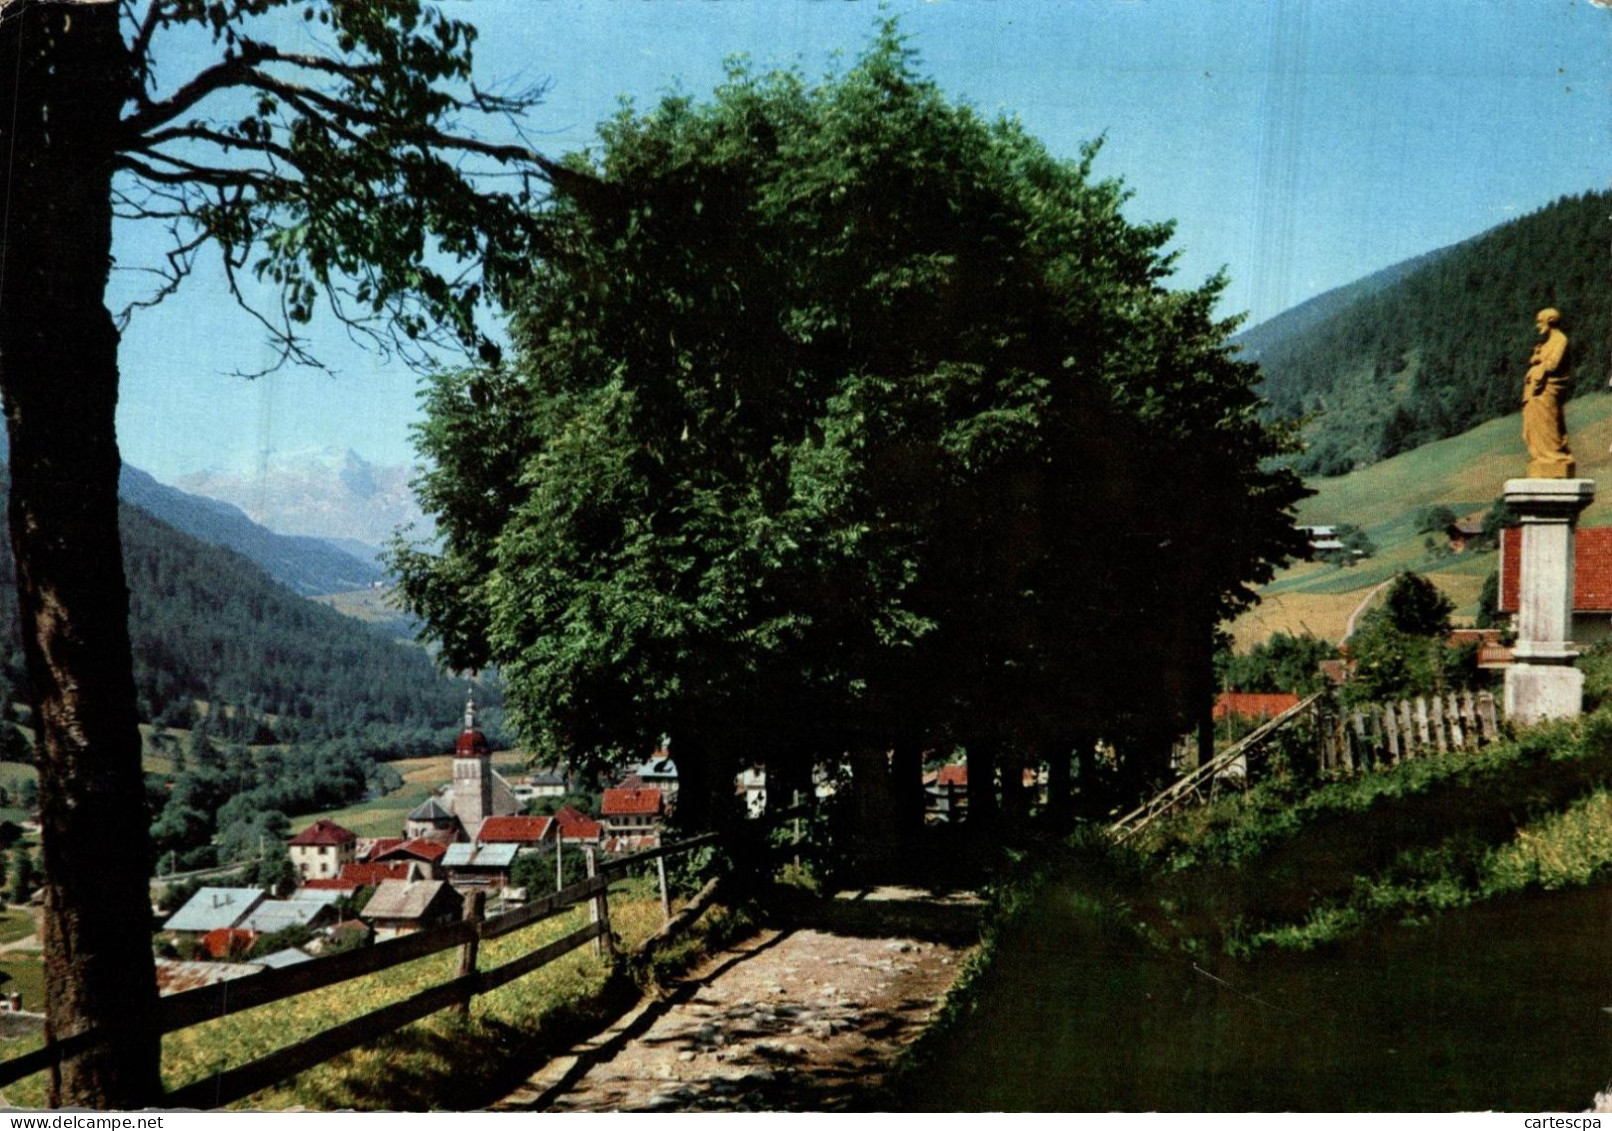
<path id="1" fill-rule="evenodd" d="M 1169 292 L 1095 156 L 949 105 L 890 26 L 606 124 L 513 364 L 427 396 L 443 545 L 397 564 L 451 662 L 555 754 L 669 731 L 696 818 L 742 759 L 1156 749 L 1302 488 L 1219 280 Z"/>

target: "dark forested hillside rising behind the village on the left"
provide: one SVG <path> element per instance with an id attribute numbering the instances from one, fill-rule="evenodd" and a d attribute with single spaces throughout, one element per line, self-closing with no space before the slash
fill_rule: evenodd
<path id="1" fill-rule="evenodd" d="M 123 543 L 142 719 L 189 727 L 203 701 L 221 707 L 210 723 L 216 738 L 343 735 L 398 754 L 435 749 L 455 727 L 466 685 L 424 649 L 303 599 L 245 557 L 127 503 Z M 6 683 L 27 701 L 3 524 L 0 633 Z M 496 693 L 479 688 L 477 699 L 493 706 Z"/>

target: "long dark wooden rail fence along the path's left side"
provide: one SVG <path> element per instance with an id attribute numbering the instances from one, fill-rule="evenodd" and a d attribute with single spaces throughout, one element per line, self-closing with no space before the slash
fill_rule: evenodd
<path id="1" fill-rule="evenodd" d="M 229 1013 L 240 1013 L 242 1010 L 256 1009 L 258 1005 L 268 1005 L 269 1002 L 284 1000 L 287 997 L 297 997 L 298 994 L 306 994 L 313 989 L 322 989 L 326 986 L 334 986 L 353 978 L 363 978 L 364 975 L 372 975 L 380 970 L 390 970 L 392 967 L 413 962 L 414 959 L 422 959 L 429 954 L 438 954 L 453 947 L 459 949 L 458 973 L 450 981 L 424 989 L 413 997 L 393 1002 L 350 1021 L 342 1021 L 340 1025 L 324 1030 L 306 1041 L 277 1049 L 276 1052 L 251 1060 L 250 1063 L 229 1068 L 227 1071 L 210 1076 L 208 1079 L 179 1088 L 166 1096 L 164 1107 L 211 1108 L 234 1104 L 235 1100 L 245 1099 L 256 1091 L 295 1076 L 306 1068 L 313 1068 L 340 1052 L 368 1044 L 369 1041 L 374 1041 L 398 1026 L 408 1025 L 409 1021 L 418 1021 L 422 1017 L 450 1007 L 467 1010 L 471 999 L 476 994 L 485 994 L 511 983 L 521 975 L 548 965 L 585 942 L 593 942 L 598 952 L 609 952 L 614 946 L 609 931 L 608 893 L 611 880 L 629 868 L 651 860 L 658 865 L 664 934 L 666 928 L 675 928 L 679 925 L 674 922 L 671 912 L 671 893 L 666 888 L 666 857 L 679 852 L 688 852 L 690 849 L 703 844 L 711 844 L 716 839 L 716 833 L 706 833 L 703 836 L 693 836 L 690 839 L 664 844 L 645 852 L 622 856 L 603 864 L 598 864 L 595 854 L 588 852 L 587 880 L 493 918 L 485 918 L 482 914 L 482 893 L 471 893 L 466 899 L 464 918 L 458 923 L 414 931 L 413 934 L 403 934 L 374 946 L 332 954 L 324 959 L 314 959 L 313 962 L 303 962 L 295 967 L 264 970 L 263 973 L 251 975 L 250 978 L 235 978 L 213 986 L 203 986 L 200 989 L 190 989 L 171 997 L 163 997 L 158 1000 L 158 1030 L 161 1033 L 176 1033 L 179 1030 L 190 1028 L 192 1025 L 200 1025 L 202 1021 L 227 1017 Z M 696 902 L 703 905 L 703 899 L 708 897 L 709 889 L 701 893 L 701 899 Z M 582 902 L 587 902 L 592 907 L 587 926 L 580 926 L 553 942 L 546 942 L 519 959 L 503 963 L 501 967 L 495 967 L 492 970 L 477 968 L 482 939 L 495 939 L 524 926 L 532 926 Z M 24 1076 L 32 1076 L 37 1071 L 56 1071 L 61 1057 L 85 1047 L 93 1041 L 93 1038 L 95 1034 L 92 1031 L 77 1033 L 60 1041 L 50 1041 L 42 1049 L 35 1049 L 34 1052 L 27 1052 L 21 1057 L 0 1062 L 0 1088 L 13 1084 Z"/>

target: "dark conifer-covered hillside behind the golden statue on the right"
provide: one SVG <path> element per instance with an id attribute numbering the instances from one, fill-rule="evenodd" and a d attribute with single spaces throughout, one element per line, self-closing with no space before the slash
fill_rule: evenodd
<path id="1" fill-rule="evenodd" d="M 1275 411 L 1309 417 L 1298 470 L 1338 475 L 1517 411 L 1533 314 L 1562 311 L 1575 388 L 1612 374 L 1612 193 L 1565 197 L 1433 256 L 1317 325 L 1261 342 Z"/>

